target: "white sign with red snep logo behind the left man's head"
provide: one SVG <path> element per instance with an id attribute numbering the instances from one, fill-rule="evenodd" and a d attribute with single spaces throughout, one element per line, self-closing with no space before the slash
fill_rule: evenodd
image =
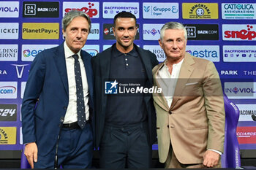
<path id="1" fill-rule="evenodd" d="M 74 9 L 85 12 L 90 18 L 99 18 L 99 2 L 63 2 L 63 16 Z"/>

